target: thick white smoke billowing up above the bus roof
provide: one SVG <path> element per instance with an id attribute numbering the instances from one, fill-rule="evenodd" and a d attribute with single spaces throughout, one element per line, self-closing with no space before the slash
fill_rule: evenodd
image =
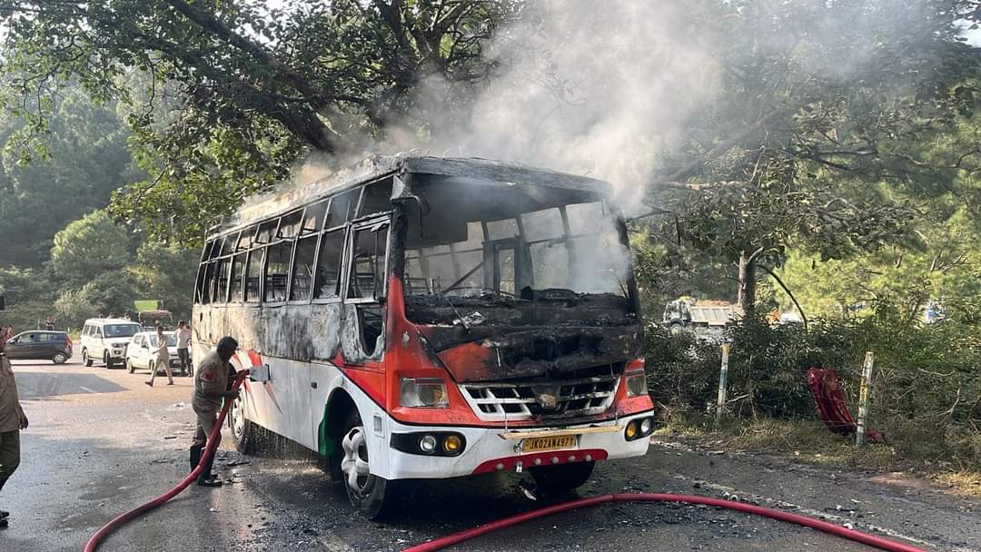
<path id="1" fill-rule="evenodd" d="M 679 2 L 536 4 L 488 45 L 505 70 L 470 118 L 435 118 L 433 149 L 598 177 L 624 205 L 639 203 L 662 154 L 716 91 L 712 45 L 689 13 Z"/>

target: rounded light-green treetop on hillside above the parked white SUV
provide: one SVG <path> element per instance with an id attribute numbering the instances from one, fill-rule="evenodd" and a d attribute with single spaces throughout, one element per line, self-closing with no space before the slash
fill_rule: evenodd
<path id="1" fill-rule="evenodd" d="M 50 268 L 71 286 L 119 271 L 133 259 L 132 239 L 105 211 L 93 211 L 55 234 Z"/>

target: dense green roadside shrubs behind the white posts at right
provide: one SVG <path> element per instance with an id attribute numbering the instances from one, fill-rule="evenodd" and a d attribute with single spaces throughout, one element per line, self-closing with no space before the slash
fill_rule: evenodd
<path id="1" fill-rule="evenodd" d="M 800 325 L 771 327 L 747 320 L 727 330 L 732 340 L 728 412 L 744 429 L 772 430 L 774 421 L 784 421 L 800 422 L 794 430 L 812 433 L 817 415 L 807 369 L 837 368 L 854 412 L 861 362 L 865 351 L 872 351 L 869 425 L 885 431 L 890 454 L 865 449 L 850 460 L 882 465 L 885 458 L 934 469 L 981 471 L 979 335 L 977 321 L 923 325 L 888 302 L 878 303 L 867 318 L 817 320 L 809 331 Z M 707 425 L 718 389 L 718 344 L 698 342 L 690 334 L 671 336 L 660 327 L 648 328 L 646 344 L 648 386 L 665 421 Z M 777 426 L 788 430 L 786 424 Z M 821 442 L 838 441 L 851 439 Z"/>

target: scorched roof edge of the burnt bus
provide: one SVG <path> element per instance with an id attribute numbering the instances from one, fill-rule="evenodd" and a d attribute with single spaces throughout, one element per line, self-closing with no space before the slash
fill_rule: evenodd
<path id="1" fill-rule="evenodd" d="M 222 233 L 235 226 L 282 215 L 308 203 L 373 180 L 411 173 L 460 176 L 473 178 L 476 181 L 512 182 L 590 191 L 603 197 L 610 195 L 612 191 L 609 182 L 604 180 L 559 173 L 519 163 L 476 157 L 432 157 L 409 153 L 374 155 L 357 165 L 341 168 L 329 176 L 307 183 L 297 183 L 274 193 L 247 200 L 232 217 L 224 221 L 223 224 L 210 228 L 208 233 Z"/>

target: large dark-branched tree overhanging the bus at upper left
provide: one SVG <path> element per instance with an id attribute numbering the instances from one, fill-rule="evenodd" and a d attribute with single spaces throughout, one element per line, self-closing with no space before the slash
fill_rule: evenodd
<path id="1" fill-rule="evenodd" d="M 416 88 L 439 78 L 453 98 L 487 78 L 483 45 L 520 5 L 13 0 L 0 10 L 0 71 L 7 105 L 27 121 L 14 143 L 48 127 L 55 81 L 122 101 L 150 176 L 115 198 L 115 213 L 199 238 L 209 216 L 281 179 L 305 151 L 343 153 L 403 125 L 425 131 L 432 106 Z"/>

